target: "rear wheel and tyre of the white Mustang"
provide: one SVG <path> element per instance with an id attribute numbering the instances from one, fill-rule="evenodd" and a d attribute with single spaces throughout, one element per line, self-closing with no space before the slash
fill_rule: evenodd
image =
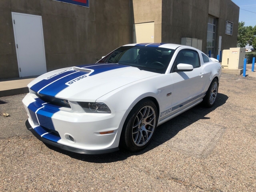
<path id="1" fill-rule="evenodd" d="M 219 83 L 218 80 L 215 78 L 212 80 L 212 83 L 209 86 L 208 91 L 206 92 L 206 95 L 203 99 L 204 106 L 207 108 L 210 108 L 214 105 L 217 94 L 218 94 L 218 88 L 219 88 Z"/>

